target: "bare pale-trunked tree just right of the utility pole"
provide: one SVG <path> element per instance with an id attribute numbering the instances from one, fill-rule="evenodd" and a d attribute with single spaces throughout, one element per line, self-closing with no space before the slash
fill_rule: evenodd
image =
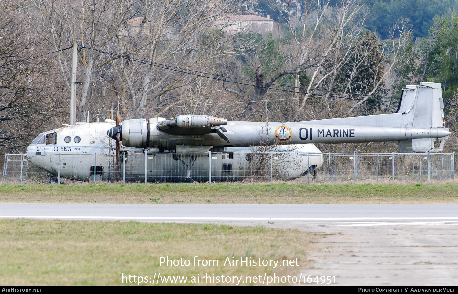
<path id="1" fill-rule="evenodd" d="M 44 48 L 58 50 L 76 42 L 89 48 L 106 49 L 116 42 L 123 24 L 136 14 L 139 1 L 129 0 L 32 0 L 23 14 L 42 38 Z M 80 120 L 87 112 L 87 101 L 92 98 L 96 71 L 103 58 L 99 51 L 82 49 L 79 54 L 83 65 L 80 95 L 77 108 Z M 64 53 L 56 54 L 61 79 L 70 88 L 71 62 Z M 81 67 L 80 67 L 81 68 Z M 81 71 L 80 71 L 81 72 Z"/>

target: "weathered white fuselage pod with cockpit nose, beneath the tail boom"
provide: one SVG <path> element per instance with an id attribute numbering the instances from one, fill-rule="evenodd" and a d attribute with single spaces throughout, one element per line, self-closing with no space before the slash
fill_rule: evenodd
<path id="1" fill-rule="evenodd" d="M 78 180 L 91 179 L 91 166 L 93 167 L 95 162 L 97 162 L 97 166 L 102 169 L 102 174 L 98 174 L 97 179 L 112 179 L 115 175 L 114 140 L 106 136 L 106 132 L 115 125 L 114 121 L 106 120 L 106 122 L 100 123 L 85 123 L 64 126 L 41 133 L 38 136 L 46 136 L 47 134 L 56 133 L 57 144 L 47 145 L 44 140 L 37 140 L 40 142 L 35 142 L 36 140 L 34 140 L 34 143 L 27 147 L 27 156 L 41 169 L 57 175 L 60 166 L 61 176 Z M 142 121 L 137 125 L 142 126 Z M 137 139 L 141 138 L 141 140 L 143 140 L 143 134 L 143 131 L 138 132 L 139 136 L 136 135 Z M 71 141 L 68 143 L 64 140 L 66 136 L 71 137 Z M 81 139 L 78 143 L 74 141 L 76 136 Z M 187 175 L 197 181 L 208 180 L 208 148 L 202 149 L 200 146 L 192 146 L 193 149 L 191 150 L 189 146 L 186 147 L 188 148 L 178 150 L 178 152 L 185 151 L 188 153 L 148 153 L 147 164 L 151 166 L 151 164 L 155 162 L 154 166 L 156 168 L 154 170 L 147 169 L 147 180 L 150 182 L 164 180 L 173 181 Z M 209 148 L 211 147 L 213 146 L 209 146 Z M 126 177 L 129 180 L 143 181 L 145 179 L 145 156 L 143 149 L 125 147 L 123 145 L 121 145 L 120 149 L 121 151 L 128 153 L 127 156 L 130 164 L 128 164 L 125 169 Z M 282 152 L 282 150 L 295 151 L 294 154 L 291 152 L 284 153 L 284 162 L 279 162 L 279 160 L 282 160 L 281 157 L 273 159 L 274 166 L 276 166 L 276 169 L 278 170 L 276 175 L 282 177 L 288 177 L 291 179 L 300 177 L 307 169 L 309 169 L 310 166 L 319 168 L 323 163 L 322 152 L 320 152 L 320 150 L 313 144 L 274 148 L 274 152 Z M 158 150 L 149 149 L 148 152 L 158 152 Z M 202 153 L 190 154 L 190 152 Z M 234 154 L 233 158 L 229 160 L 227 154 L 230 152 L 234 152 Z M 252 152 L 253 150 L 250 147 L 246 147 L 225 148 L 224 152 L 212 153 L 211 162 L 213 180 L 243 180 L 243 178 L 247 176 L 251 170 L 250 162 L 246 160 L 246 155 Z M 155 161 L 150 159 L 150 157 L 154 158 Z M 158 164 L 158 160 L 160 160 L 159 162 L 161 164 Z M 190 161 L 193 162 L 193 168 L 184 170 L 184 167 L 186 164 L 189 164 Z M 183 162 L 185 164 L 183 164 Z M 223 171 L 223 164 L 227 163 L 232 164 L 234 173 L 225 173 Z M 270 161 L 268 165 L 270 166 Z M 237 171 L 237 173 L 235 173 L 235 171 Z"/>

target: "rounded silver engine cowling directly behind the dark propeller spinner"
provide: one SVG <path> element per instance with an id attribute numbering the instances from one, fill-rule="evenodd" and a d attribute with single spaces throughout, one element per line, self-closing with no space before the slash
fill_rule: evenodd
<path id="1" fill-rule="evenodd" d="M 123 120 L 121 125 L 122 145 L 136 148 L 147 146 L 149 130 L 147 120 Z"/>

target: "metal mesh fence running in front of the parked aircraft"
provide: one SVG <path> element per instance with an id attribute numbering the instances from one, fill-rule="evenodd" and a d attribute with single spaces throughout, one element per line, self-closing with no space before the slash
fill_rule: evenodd
<path id="1" fill-rule="evenodd" d="M 2 184 L 454 180 L 454 153 L 1 154 Z"/>

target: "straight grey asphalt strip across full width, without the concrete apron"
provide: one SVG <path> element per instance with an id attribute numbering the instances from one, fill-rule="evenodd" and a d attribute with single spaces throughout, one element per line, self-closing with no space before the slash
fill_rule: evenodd
<path id="1" fill-rule="evenodd" d="M 0 218 L 139 221 L 458 220 L 458 204 L 51 204 L 1 203 Z"/>

